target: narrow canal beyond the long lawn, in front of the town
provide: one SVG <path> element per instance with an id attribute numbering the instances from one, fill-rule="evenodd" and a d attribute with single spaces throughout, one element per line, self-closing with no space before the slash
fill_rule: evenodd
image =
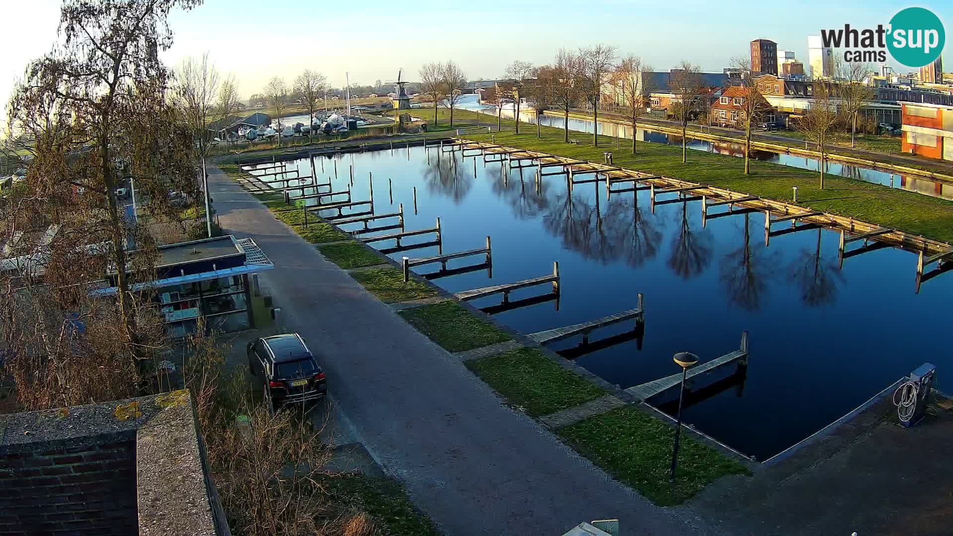
<path id="1" fill-rule="evenodd" d="M 470 97 L 470 95 L 463 95 Z M 458 104 L 461 109 L 471 112 L 487 113 L 496 117 L 497 108 L 494 105 L 479 104 L 474 98 L 464 98 Z M 516 112 L 513 107 L 504 107 L 503 117 L 512 119 Z M 536 124 L 536 113 L 533 111 L 519 111 L 520 120 L 526 123 Z M 554 127 L 561 129 L 566 121 L 564 117 L 558 115 L 543 114 L 540 116 L 540 123 L 545 127 Z M 694 128 L 694 126 L 692 127 Z M 591 119 L 579 119 L 577 117 L 569 118 L 569 130 L 579 133 L 592 134 L 593 121 Z M 598 133 L 603 135 L 618 136 L 623 139 L 632 139 L 632 127 L 618 125 L 611 121 L 598 121 Z M 661 133 L 651 129 L 639 127 L 636 132 L 636 140 L 639 142 L 662 143 L 667 145 L 681 145 L 681 137 L 673 134 Z M 733 143 L 720 143 L 704 139 L 689 139 L 687 144 L 689 149 L 695 151 L 704 151 L 706 153 L 718 153 L 720 155 L 744 156 L 744 145 Z M 819 164 L 817 158 L 810 158 L 798 155 L 784 155 L 770 151 L 752 150 L 751 157 L 765 162 L 781 164 L 794 168 L 801 168 L 811 171 L 818 171 Z M 943 199 L 953 200 L 953 184 L 931 180 L 911 175 L 891 174 L 871 168 L 860 166 L 851 166 L 840 162 L 827 161 L 824 165 L 825 173 L 830 175 L 847 176 L 866 182 L 882 184 L 911 192 L 918 192 L 925 196 L 941 197 Z"/>

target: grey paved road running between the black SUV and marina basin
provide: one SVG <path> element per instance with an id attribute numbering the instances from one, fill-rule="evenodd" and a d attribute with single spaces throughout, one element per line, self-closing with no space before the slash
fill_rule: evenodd
<path id="1" fill-rule="evenodd" d="M 627 535 L 717 533 L 651 505 L 501 404 L 216 167 L 209 184 L 222 228 L 274 261 L 260 282 L 318 354 L 358 441 L 446 533 L 558 535 L 605 518 Z"/>

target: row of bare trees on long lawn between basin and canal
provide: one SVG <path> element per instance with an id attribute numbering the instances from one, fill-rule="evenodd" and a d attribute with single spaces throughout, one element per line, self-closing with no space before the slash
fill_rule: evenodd
<path id="1" fill-rule="evenodd" d="M 821 154 L 821 189 L 824 187 L 824 155 L 834 130 L 840 125 L 848 125 L 853 147 L 858 115 L 874 96 L 873 89 L 863 82 L 871 66 L 842 61 L 835 63 L 839 82 L 817 84 L 810 107 L 795 123 L 804 139 L 816 145 Z M 748 175 L 752 130 L 767 118 L 772 107 L 760 92 L 750 61 L 733 58 L 732 65 L 741 73 L 738 83 L 742 96 L 729 102 L 739 114 L 738 126 L 744 130 L 744 174 Z M 489 89 L 483 99 L 497 106 L 497 131 L 502 128 L 503 106 L 512 103 L 518 118 L 523 98 L 537 113 L 537 136 L 541 132 L 540 114 L 548 109 L 561 111 L 563 141 L 566 143 L 569 142 L 569 113 L 585 103 L 592 110 L 593 145 L 598 146 L 598 111 L 606 96 L 611 94 L 606 91 L 607 86 L 615 89 L 616 99 L 626 110 L 633 133 L 637 132 L 639 119 L 650 111 L 650 93 L 669 90 L 672 98 L 668 113 L 681 127 L 681 160 L 687 163 L 688 124 L 697 120 L 710 126 L 710 105 L 718 96 L 712 93 L 712 88 L 704 86 L 699 66 L 691 62 L 682 61 L 670 72 L 668 88 L 654 87 L 651 72 L 653 68 L 639 55 L 630 53 L 618 59 L 617 49 L 609 45 L 578 51 L 560 50 L 548 65 L 534 67 L 529 62 L 514 61 L 506 68 L 506 81 Z M 454 107 L 465 84 L 463 73 L 453 61 L 430 63 L 420 70 L 420 81 L 421 92 L 434 102 L 435 124 L 437 103 L 445 102 L 450 108 L 450 125 L 453 126 Z M 518 120 L 515 128 L 518 134 Z M 635 137 L 633 135 L 633 155 L 636 154 Z"/>

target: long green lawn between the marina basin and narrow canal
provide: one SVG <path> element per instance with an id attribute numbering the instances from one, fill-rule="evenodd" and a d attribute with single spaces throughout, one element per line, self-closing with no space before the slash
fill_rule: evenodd
<path id="1" fill-rule="evenodd" d="M 433 118 L 433 110 L 417 110 L 421 116 Z M 448 114 L 440 111 L 443 120 Z M 461 123 L 486 121 L 478 113 L 456 111 Z M 537 138 L 536 127 L 521 124 L 520 134 L 513 132 L 513 121 L 503 121 L 503 132 L 494 134 L 467 134 L 467 139 L 491 141 L 519 149 L 545 152 L 601 162 L 602 152 L 611 151 L 613 162 L 621 167 L 671 176 L 682 180 L 711 184 L 737 192 L 791 201 L 791 188 L 798 187 L 798 203 L 806 208 L 839 216 L 853 216 L 862 221 L 892 227 L 937 240 L 953 241 L 953 201 L 923 196 L 895 188 L 871 184 L 862 180 L 835 175 L 825 176 L 825 188 L 820 189 L 819 175 L 801 170 L 752 160 L 751 175 L 744 175 L 744 161 L 728 155 L 688 152 L 688 163 L 681 163 L 681 148 L 658 143 L 638 142 L 632 155 L 632 141 L 622 140 L 616 149 L 615 138 L 599 136 L 599 147 L 592 145 L 591 134 L 570 133 L 584 143 L 563 143 L 562 130 L 543 127 Z M 525 129 L 525 130 L 524 130 Z"/>

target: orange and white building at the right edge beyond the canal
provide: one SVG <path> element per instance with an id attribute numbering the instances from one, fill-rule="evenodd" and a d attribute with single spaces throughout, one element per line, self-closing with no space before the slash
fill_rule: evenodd
<path id="1" fill-rule="evenodd" d="M 903 153 L 953 160 L 953 106 L 901 102 Z"/>

